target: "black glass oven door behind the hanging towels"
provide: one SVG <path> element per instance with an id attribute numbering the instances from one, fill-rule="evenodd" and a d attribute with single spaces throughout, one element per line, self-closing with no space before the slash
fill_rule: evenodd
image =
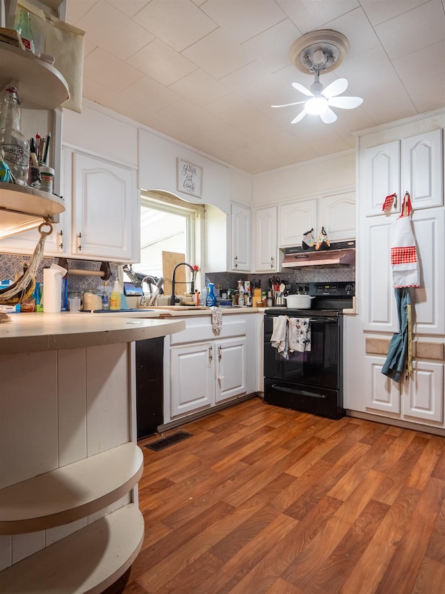
<path id="1" fill-rule="evenodd" d="M 284 359 L 270 344 L 275 316 L 264 316 L 264 377 L 298 386 L 339 390 L 341 385 L 341 319 L 312 315 L 311 350 Z"/>

